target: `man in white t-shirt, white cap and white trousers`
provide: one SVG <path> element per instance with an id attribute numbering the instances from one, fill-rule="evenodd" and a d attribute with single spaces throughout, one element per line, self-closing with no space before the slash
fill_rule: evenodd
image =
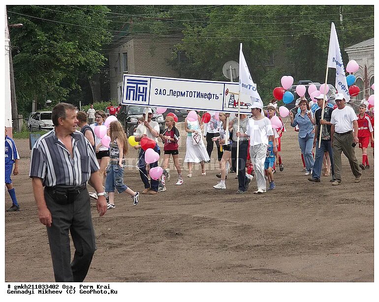
<path id="1" fill-rule="evenodd" d="M 262 115 L 263 106 L 259 101 L 254 101 L 250 106 L 253 117 L 249 119 L 246 133 L 237 132 L 237 136 L 250 137 L 250 158 L 254 163 L 257 191 L 254 194 L 266 192 L 266 179 L 264 177 L 264 162 L 266 160 L 268 140 L 273 142 L 275 155 L 278 148 L 271 121 Z"/>

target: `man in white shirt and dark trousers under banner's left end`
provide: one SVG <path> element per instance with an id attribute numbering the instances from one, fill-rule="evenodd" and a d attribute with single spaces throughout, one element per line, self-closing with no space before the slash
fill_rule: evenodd
<path id="1" fill-rule="evenodd" d="M 143 118 L 145 119 L 145 110 L 143 113 Z M 159 124 L 155 121 L 152 121 L 151 118 L 153 116 L 153 110 L 151 108 L 148 109 L 148 119 L 147 122 L 143 122 L 138 125 L 137 130 L 135 132 L 135 141 L 140 141 L 142 137 L 150 137 L 155 140 L 156 145 L 154 147 L 154 151 L 160 155 L 160 149 L 158 146 L 158 136 L 159 136 Z M 146 133 L 145 133 L 146 128 Z M 142 191 L 142 194 L 157 194 L 158 193 L 158 180 L 154 180 L 153 178 L 150 180 L 147 178 L 146 171 L 146 162 L 145 162 L 145 150 L 142 148 L 139 151 L 138 155 L 138 164 L 139 175 L 141 176 L 142 182 L 145 186 L 145 190 Z M 158 167 L 158 161 L 150 164 L 150 168 Z"/>

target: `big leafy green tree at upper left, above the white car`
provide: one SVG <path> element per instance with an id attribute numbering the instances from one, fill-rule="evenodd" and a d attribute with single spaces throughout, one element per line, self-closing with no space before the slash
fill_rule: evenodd
<path id="1" fill-rule="evenodd" d="M 90 79 L 100 71 L 102 45 L 110 41 L 108 11 L 103 5 L 7 6 L 9 23 L 24 24 L 10 33 L 18 102 L 66 101 L 80 90 L 80 75 Z"/>

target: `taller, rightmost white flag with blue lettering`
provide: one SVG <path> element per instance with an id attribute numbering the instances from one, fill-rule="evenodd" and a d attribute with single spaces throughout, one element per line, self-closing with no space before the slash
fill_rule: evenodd
<path id="1" fill-rule="evenodd" d="M 334 26 L 333 22 L 332 28 L 330 30 L 327 67 L 336 68 L 336 89 L 338 93 L 342 93 L 344 95 L 346 101 L 350 101 L 350 94 L 348 92 L 345 67 L 344 62 L 342 61 L 340 43 L 338 43 L 336 27 Z"/>

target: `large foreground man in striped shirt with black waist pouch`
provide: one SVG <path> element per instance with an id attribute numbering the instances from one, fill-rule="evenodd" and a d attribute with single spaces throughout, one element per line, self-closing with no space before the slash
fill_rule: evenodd
<path id="1" fill-rule="evenodd" d="M 54 276 L 57 282 L 82 282 L 96 250 L 91 201 L 86 188 L 91 179 L 97 191 L 97 212 L 106 212 L 106 201 L 94 149 L 76 131 L 73 105 L 53 108 L 55 128 L 33 146 L 30 177 L 39 221 L 47 228 Z M 43 188 L 45 187 L 45 188 Z M 70 230 L 75 246 L 70 257 Z"/>

